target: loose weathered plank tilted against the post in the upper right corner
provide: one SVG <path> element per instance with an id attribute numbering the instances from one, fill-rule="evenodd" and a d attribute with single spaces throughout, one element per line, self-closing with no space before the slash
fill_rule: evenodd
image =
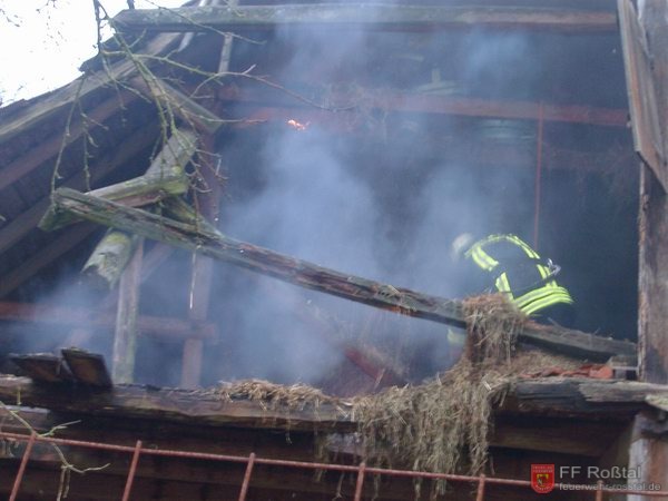
<path id="1" fill-rule="evenodd" d="M 665 139 L 659 125 L 659 106 L 651 70 L 647 35 L 630 0 L 617 0 L 619 28 L 636 151 L 668 190 Z"/>

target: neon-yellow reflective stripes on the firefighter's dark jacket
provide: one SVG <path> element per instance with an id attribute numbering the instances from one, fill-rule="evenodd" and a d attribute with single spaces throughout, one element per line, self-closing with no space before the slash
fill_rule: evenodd
<path id="1" fill-rule="evenodd" d="M 515 288 L 511 286 L 513 278 L 513 269 L 509 266 L 505 268 L 500 256 L 490 255 L 485 247 L 494 247 L 494 245 L 511 244 L 519 249 L 520 257 L 529 264 L 531 269 L 536 269 L 536 281 L 530 287 Z M 494 253 L 492 253 L 494 254 Z M 466 257 L 470 257 L 473 263 L 481 269 L 490 273 L 499 273 L 494 281 L 497 291 L 505 294 L 520 311 L 527 315 L 540 312 L 541 310 L 552 306 L 553 304 L 564 303 L 572 304 L 573 299 L 569 292 L 557 284 L 553 278 L 550 278 L 550 267 L 540 262 L 540 256 L 529 245 L 515 235 L 491 235 L 480 242 L 477 242 L 466 250 Z M 510 274 L 510 277 L 509 277 Z"/>

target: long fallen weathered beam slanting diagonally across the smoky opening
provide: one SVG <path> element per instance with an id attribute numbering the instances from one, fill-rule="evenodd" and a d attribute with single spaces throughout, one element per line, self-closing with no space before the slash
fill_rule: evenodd
<path id="1" fill-rule="evenodd" d="M 218 232 L 208 230 L 204 225 L 197 227 L 179 223 L 67 188 L 53 194 L 53 204 L 58 209 L 72 212 L 77 217 L 196 250 L 305 288 L 418 318 L 465 326 L 460 302 L 346 275 L 228 238 Z M 630 342 L 532 322 L 527 323 L 520 340 L 550 351 L 595 361 L 636 353 L 636 345 Z"/>

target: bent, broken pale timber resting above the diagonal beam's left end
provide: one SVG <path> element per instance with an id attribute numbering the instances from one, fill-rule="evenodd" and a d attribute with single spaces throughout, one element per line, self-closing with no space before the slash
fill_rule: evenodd
<path id="1" fill-rule="evenodd" d="M 144 176 L 94 189 L 89 194 L 129 206 L 155 204 L 164 198 L 184 194 L 189 186 L 185 167 L 197 150 L 197 146 L 198 138 L 195 132 L 175 129 Z M 39 223 L 39 227 L 51 232 L 75 220 L 71 214 L 59 214 L 53 212 L 51 206 Z"/>

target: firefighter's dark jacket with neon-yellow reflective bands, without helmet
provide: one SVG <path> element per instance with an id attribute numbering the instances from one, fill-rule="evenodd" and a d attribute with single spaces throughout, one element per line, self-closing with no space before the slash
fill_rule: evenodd
<path id="1" fill-rule="evenodd" d="M 497 291 L 527 315 L 554 304 L 573 303 L 569 292 L 554 281 L 550 266 L 515 235 L 490 235 L 473 244 L 465 256 L 493 274 Z"/>

